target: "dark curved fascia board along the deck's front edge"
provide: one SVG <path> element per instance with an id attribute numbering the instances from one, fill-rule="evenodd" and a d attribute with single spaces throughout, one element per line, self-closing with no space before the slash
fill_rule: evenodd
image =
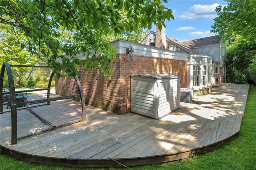
<path id="1" fill-rule="evenodd" d="M 44 165 L 53 165 L 53 166 L 68 166 L 68 167 L 76 167 L 76 168 L 100 168 L 100 167 L 122 167 L 121 164 L 125 166 L 138 166 L 138 165 L 148 165 L 148 164 L 158 164 L 164 162 L 171 162 L 175 160 L 181 160 L 189 158 L 190 156 L 196 156 L 199 154 L 203 154 L 206 152 L 210 152 L 211 150 L 218 149 L 227 145 L 234 139 L 239 136 L 240 131 L 235 133 L 234 135 L 216 143 L 206 145 L 203 147 L 199 147 L 192 150 L 187 150 L 184 152 L 177 152 L 174 154 L 168 155 L 158 155 L 158 156 L 148 156 L 148 157 L 141 157 L 141 158 L 128 158 L 128 159 L 67 159 L 67 158 L 52 158 L 46 156 L 38 156 L 33 154 L 26 154 L 23 152 L 19 152 L 16 150 L 8 149 L 2 145 L 0 145 L 0 152 L 12 156 L 19 160 L 24 160 L 28 162 L 33 162 L 37 164 L 44 164 Z M 119 163 L 118 163 L 119 162 Z"/>

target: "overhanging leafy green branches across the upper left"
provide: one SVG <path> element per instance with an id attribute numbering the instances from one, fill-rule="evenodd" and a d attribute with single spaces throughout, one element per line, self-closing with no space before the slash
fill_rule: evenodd
<path id="1" fill-rule="evenodd" d="M 104 36 L 136 31 L 138 24 L 151 29 L 152 23 L 158 22 L 162 29 L 163 20 L 173 19 L 172 10 L 160 0 L 2 0 L 0 6 L 0 22 L 29 37 L 28 44 L 21 43 L 21 47 L 46 57 L 57 77 L 65 77 L 61 71 L 79 75 L 76 67 L 80 65 L 86 70 L 95 68 L 110 74 L 116 49 Z M 121 20 L 120 10 L 128 20 Z M 96 51 L 100 51 L 98 56 Z M 87 60 L 76 59 L 79 53 Z"/>

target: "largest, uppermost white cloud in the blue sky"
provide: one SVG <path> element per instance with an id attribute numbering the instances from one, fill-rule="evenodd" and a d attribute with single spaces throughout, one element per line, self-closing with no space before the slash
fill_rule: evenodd
<path id="1" fill-rule="evenodd" d="M 217 3 L 212 5 L 194 5 L 187 12 L 184 12 L 180 18 L 186 20 L 213 19 L 217 16 L 215 8 L 219 5 Z"/>

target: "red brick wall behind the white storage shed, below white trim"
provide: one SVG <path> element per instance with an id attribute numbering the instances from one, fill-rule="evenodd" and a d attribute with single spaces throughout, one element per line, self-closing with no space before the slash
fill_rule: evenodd
<path id="1" fill-rule="evenodd" d="M 181 76 L 181 87 L 186 88 L 187 61 L 157 59 L 152 57 L 118 55 L 112 62 L 113 73 L 104 77 L 96 70 L 86 72 L 80 68 L 86 104 L 99 107 L 118 114 L 130 111 L 130 75 L 131 74 L 172 74 Z M 109 78 L 111 80 L 109 80 Z M 56 80 L 56 94 L 61 96 L 78 93 L 74 78 Z"/>

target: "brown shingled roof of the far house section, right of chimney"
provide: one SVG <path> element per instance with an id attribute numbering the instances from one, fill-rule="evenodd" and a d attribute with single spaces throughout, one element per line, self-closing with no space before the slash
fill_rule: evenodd
<path id="1" fill-rule="evenodd" d="M 182 43 L 190 48 L 196 48 L 196 47 L 203 47 L 207 45 L 219 44 L 220 41 L 221 41 L 221 37 L 212 36 L 212 37 L 205 37 L 200 39 L 193 39 L 190 41 L 184 41 Z"/>

